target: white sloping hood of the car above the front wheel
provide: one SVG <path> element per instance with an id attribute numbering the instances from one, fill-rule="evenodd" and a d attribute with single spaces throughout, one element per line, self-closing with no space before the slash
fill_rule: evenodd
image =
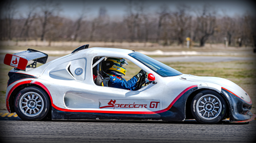
<path id="1" fill-rule="evenodd" d="M 208 77 L 208 76 L 195 76 L 195 75 L 186 75 L 182 76 L 186 78 L 187 81 L 203 81 L 207 84 L 207 82 L 215 83 L 220 85 L 222 88 L 229 90 L 230 92 L 237 95 L 239 98 L 245 100 L 246 102 L 250 102 L 251 99 L 249 95 L 236 83 L 220 77 Z"/>

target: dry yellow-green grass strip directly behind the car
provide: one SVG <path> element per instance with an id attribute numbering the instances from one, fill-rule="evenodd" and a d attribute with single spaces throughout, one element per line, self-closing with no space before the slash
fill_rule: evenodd
<path id="1" fill-rule="evenodd" d="M 237 83 L 243 88 L 251 97 L 252 113 L 256 113 L 256 61 L 232 61 L 232 62 L 218 62 L 218 63 L 201 63 L 201 62 L 173 62 L 164 63 L 182 73 L 193 74 L 197 76 L 216 76 L 229 79 Z M 130 79 L 140 71 L 140 68 L 133 63 L 129 63 L 125 67 L 127 74 L 125 79 Z M 7 81 L 9 79 L 8 72 L 12 67 L 0 64 L 0 109 L 6 110 L 5 94 L 7 88 Z"/>

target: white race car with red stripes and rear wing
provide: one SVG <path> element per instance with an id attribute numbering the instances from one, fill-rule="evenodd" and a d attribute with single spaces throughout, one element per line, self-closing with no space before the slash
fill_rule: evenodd
<path id="1" fill-rule="evenodd" d="M 15 67 L 8 73 L 8 111 L 30 121 L 196 119 L 216 124 L 255 118 L 249 95 L 227 79 L 182 74 L 132 50 L 88 46 L 47 64 L 48 55 L 33 49 L 6 54 L 4 63 Z M 108 87 L 109 57 L 134 63 L 148 73 L 150 83 L 140 77 L 136 91 Z M 36 68 L 37 62 L 44 65 Z"/>

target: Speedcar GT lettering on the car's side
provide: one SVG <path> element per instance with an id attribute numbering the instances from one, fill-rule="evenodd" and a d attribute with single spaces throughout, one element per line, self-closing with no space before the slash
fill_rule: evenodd
<path id="1" fill-rule="evenodd" d="M 115 104 L 116 100 L 110 100 L 110 102 L 108 103 L 109 106 L 102 106 L 99 108 L 109 108 L 109 107 L 113 107 L 113 109 L 115 108 L 147 108 L 147 104 L 135 104 L 135 102 L 133 104 Z M 157 108 L 158 103 L 160 102 L 155 102 L 152 101 L 150 102 L 150 108 Z"/>

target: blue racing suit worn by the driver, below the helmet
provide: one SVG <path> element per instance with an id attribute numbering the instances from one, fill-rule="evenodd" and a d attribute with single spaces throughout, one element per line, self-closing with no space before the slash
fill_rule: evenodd
<path id="1" fill-rule="evenodd" d="M 134 91 L 136 90 L 136 82 L 138 79 L 134 76 L 130 80 L 126 81 L 122 76 L 117 75 L 115 73 L 110 72 L 108 74 L 110 76 L 110 80 L 108 82 L 108 86 L 112 88 L 124 89 Z"/>

